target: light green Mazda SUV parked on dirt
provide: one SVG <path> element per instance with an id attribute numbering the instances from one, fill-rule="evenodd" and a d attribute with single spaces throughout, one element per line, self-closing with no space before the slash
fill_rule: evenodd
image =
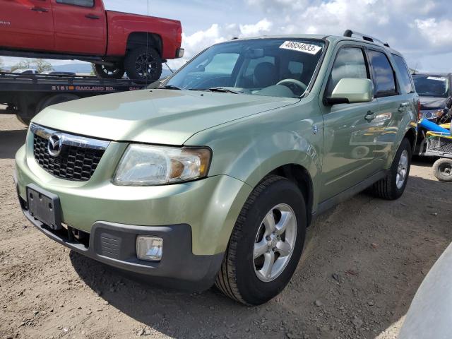
<path id="1" fill-rule="evenodd" d="M 418 109 L 375 38 L 222 42 L 151 88 L 44 109 L 16 155 L 20 205 L 97 261 L 262 304 L 316 215 L 368 187 L 403 194 Z"/>

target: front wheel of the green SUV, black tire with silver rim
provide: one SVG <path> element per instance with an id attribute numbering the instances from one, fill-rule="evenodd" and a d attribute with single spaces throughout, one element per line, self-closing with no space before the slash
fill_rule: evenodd
<path id="1" fill-rule="evenodd" d="M 280 234 L 280 241 L 287 244 L 292 239 L 292 251 L 287 252 L 287 259 L 282 255 L 283 252 L 274 252 L 275 263 L 278 265 L 273 266 L 274 270 L 270 270 L 270 274 L 275 273 L 275 276 L 264 276 L 261 272 L 266 271 L 264 268 L 266 258 L 270 258 L 270 251 L 256 258 L 254 253 L 258 244 L 280 246 L 278 239 L 274 238 L 275 234 L 271 234 L 271 241 L 265 237 L 267 228 L 264 225 L 267 223 L 264 218 L 270 215 L 268 212 L 273 211 L 271 215 L 277 226 L 275 230 L 278 230 L 278 223 L 283 220 L 283 214 L 279 213 L 278 209 L 273 209 L 278 206 L 286 211 L 290 210 L 295 217 L 287 219 L 287 230 Z M 227 297 L 243 304 L 259 305 L 268 302 L 278 295 L 292 278 L 302 255 L 306 227 L 306 205 L 298 187 L 283 177 L 267 177 L 256 186 L 237 218 L 215 285 Z M 264 247 L 268 249 L 266 246 Z M 278 261 L 280 259 L 282 261 Z"/>

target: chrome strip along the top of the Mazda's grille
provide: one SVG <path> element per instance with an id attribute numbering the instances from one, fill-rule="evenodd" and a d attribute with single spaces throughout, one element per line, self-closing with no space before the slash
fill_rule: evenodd
<path id="1" fill-rule="evenodd" d="M 55 131 L 54 129 L 48 129 L 47 127 L 37 124 L 30 124 L 30 131 L 47 140 L 49 140 L 50 136 L 53 134 L 58 133 L 59 136 L 61 136 L 63 145 L 90 148 L 92 150 L 106 150 L 110 144 L 109 141 L 87 138 L 85 136 L 74 136 L 73 134 Z"/>

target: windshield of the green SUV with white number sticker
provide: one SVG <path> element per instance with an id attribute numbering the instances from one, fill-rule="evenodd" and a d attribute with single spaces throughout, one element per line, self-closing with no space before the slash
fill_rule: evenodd
<path id="1" fill-rule="evenodd" d="M 216 44 L 161 88 L 299 97 L 311 82 L 324 46 L 322 40 L 292 38 Z"/>

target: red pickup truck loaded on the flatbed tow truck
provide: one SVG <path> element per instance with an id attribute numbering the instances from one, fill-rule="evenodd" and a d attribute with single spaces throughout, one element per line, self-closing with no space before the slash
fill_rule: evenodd
<path id="1" fill-rule="evenodd" d="M 0 0 L 0 54 L 92 62 L 102 78 L 157 80 L 182 57 L 178 20 L 105 11 L 102 0 Z"/>

